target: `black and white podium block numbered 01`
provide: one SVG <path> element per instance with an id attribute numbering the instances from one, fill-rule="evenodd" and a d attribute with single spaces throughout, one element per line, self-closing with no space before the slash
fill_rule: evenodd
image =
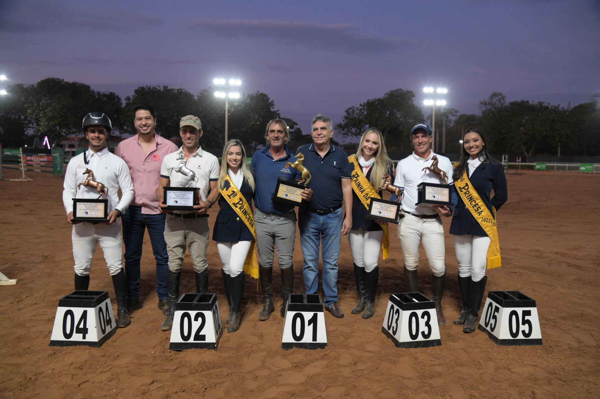
<path id="1" fill-rule="evenodd" d="M 281 348 L 325 349 L 327 332 L 323 302 L 317 294 L 290 294 Z"/>

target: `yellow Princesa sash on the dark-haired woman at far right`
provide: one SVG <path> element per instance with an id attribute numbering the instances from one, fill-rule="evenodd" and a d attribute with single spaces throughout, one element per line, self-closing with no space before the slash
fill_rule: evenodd
<path id="1" fill-rule="evenodd" d="M 498 239 L 498 230 L 496 229 L 496 208 L 491 207 L 494 215 L 490 213 L 485 203 L 479 197 L 479 194 L 467 177 L 467 169 L 465 168 L 463 176 L 458 181 L 454 182 L 454 187 L 458 196 L 463 199 L 464 205 L 471 212 L 479 226 L 485 230 L 490 237 L 490 246 L 488 247 L 487 260 L 488 269 L 499 268 L 500 263 L 500 241 Z"/>

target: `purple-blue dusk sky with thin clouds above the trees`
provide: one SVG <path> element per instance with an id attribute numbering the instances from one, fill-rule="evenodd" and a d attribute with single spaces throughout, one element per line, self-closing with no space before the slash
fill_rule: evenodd
<path id="1" fill-rule="evenodd" d="M 304 131 L 391 89 L 422 104 L 425 85 L 461 113 L 494 91 L 583 103 L 600 92 L 599 43 L 593 0 L 0 1 L 6 85 L 60 77 L 124 99 L 237 77 Z"/>

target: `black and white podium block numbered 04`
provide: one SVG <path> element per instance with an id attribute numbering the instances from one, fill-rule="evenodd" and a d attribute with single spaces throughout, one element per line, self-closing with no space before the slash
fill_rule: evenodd
<path id="1" fill-rule="evenodd" d="M 58 301 L 50 346 L 100 347 L 115 331 L 108 292 L 74 291 Z"/>

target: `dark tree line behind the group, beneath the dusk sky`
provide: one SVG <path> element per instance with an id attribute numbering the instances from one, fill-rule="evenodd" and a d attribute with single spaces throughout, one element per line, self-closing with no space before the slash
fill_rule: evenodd
<path id="1" fill-rule="evenodd" d="M 113 130 L 135 134 L 132 110 L 146 102 L 157 110 L 156 130 L 164 137 L 178 137 L 179 119 L 197 115 L 202 119 L 203 146 L 221 148 L 224 140 L 225 107 L 214 97 L 211 87 L 196 95 L 181 88 L 140 86 L 125 101 L 114 92 L 95 91 L 80 82 L 67 82 L 50 77 L 34 85 L 17 84 L 7 88 L 10 95 L 0 97 L 0 141 L 5 146 L 20 146 L 28 137 L 48 136 L 50 142 L 81 133 L 83 115 L 101 110 L 110 116 Z M 344 112 L 335 125 L 337 134 L 346 137 L 346 149 L 356 142 L 368 127 L 382 131 L 388 151 L 410 152 L 410 128 L 425 121 L 415 93 L 394 89 L 382 97 L 372 98 Z M 487 137 L 496 156 L 523 155 L 594 155 L 600 154 L 600 94 L 577 106 L 534 101 L 507 101 L 494 92 L 480 101 L 479 114 L 459 113 L 445 108 L 436 110 L 437 151 L 442 151 L 442 130 L 446 131 L 446 152 L 460 151 L 459 140 L 464 130 L 479 128 Z M 281 115 L 269 95 L 257 91 L 242 95 L 229 104 L 229 137 L 241 140 L 248 152 L 265 145 L 265 124 L 270 119 L 284 119 L 290 128 L 290 148 L 310 141 L 298 123 Z M 427 121 L 431 120 L 431 115 Z M 339 137 L 339 136 L 338 136 Z"/>

